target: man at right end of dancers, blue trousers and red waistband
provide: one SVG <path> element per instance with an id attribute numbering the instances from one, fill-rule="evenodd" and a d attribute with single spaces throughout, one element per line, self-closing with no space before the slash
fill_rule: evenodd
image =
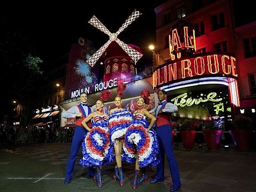
<path id="1" fill-rule="evenodd" d="M 156 117 L 156 135 L 159 143 L 158 158 L 160 163 L 156 166 L 156 176 L 150 180 L 150 183 L 164 180 L 164 152 L 166 153 L 170 174 L 172 178 L 172 187 L 170 191 L 176 191 L 180 188 L 180 177 L 178 171 L 178 164 L 172 150 L 171 143 L 171 127 L 170 127 L 170 113 L 178 110 L 175 104 L 166 101 L 167 93 L 164 90 L 157 92 L 159 104 L 149 112 L 154 112 Z"/>

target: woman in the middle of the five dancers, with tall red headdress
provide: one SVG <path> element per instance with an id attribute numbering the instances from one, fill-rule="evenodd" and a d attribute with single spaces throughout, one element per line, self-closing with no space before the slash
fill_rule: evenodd
<path id="1" fill-rule="evenodd" d="M 115 108 L 110 109 L 108 118 L 108 129 L 110 133 L 111 143 L 114 146 L 116 166 L 114 168 L 113 179 L 119 180 L 119 184 L 123 186 L 124 178 L 121 163 L 121 151 L 123 146 L 124 134 L 127 126 L 132 119 L 132 114 L 127 109 L 121 107 L 122 91 L 126 88 L 123 83 L 118 84 L 117 95 L 114 98 Z"/>

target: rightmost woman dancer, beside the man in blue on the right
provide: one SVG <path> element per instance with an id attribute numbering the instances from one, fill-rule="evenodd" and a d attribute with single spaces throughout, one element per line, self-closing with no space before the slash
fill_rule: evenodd
<path id="1" fill-rule="evenodd" d="M 151 129 L 156 118 L 143 108 L 144 103 L 149 101 L 149 91 L 143 90 L 137 99 L 138 109 L 133 114 L 133 119 L 125 133 L 123 145 L 123 158 L 129 163 L 135 163 L 135 175 L 132 181 L 132 188 L 136 189 L 138 183 L 147 179 L 145 166 L 156 166 L 159 160 L 156 159 L 158 153 L 158 141 L 156 134 Z M 150 123 L 146 121 L 150 119 Z M 150 130 L 151 129 L 151 130 Z M 140 167 L 142 176 L 139 178 Z"/>

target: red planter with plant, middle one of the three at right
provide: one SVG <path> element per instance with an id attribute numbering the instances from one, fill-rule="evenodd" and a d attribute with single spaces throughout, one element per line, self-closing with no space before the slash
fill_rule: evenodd
<path id="1" fill-rule="evenodd" d="M 205 129 L 202 130 L 207 148 L 209 150 L 219 149 L 220 148 L 220 140 L 222 134 L 222 128 L 224 124 L 223 119 L 217 120 L 206 120 L 204 121 Z"/>

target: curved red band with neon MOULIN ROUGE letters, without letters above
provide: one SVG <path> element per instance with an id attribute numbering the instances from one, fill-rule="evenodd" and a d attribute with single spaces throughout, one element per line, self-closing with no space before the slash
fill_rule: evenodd
<path id="1" fill-rule="evenodd" d="M 157 88 L 173 81 L 212 75 L 236 78 L 235 58 L 226 54 L 210 54 L 165 63 L 154 70 L 152 86 Z"/>

